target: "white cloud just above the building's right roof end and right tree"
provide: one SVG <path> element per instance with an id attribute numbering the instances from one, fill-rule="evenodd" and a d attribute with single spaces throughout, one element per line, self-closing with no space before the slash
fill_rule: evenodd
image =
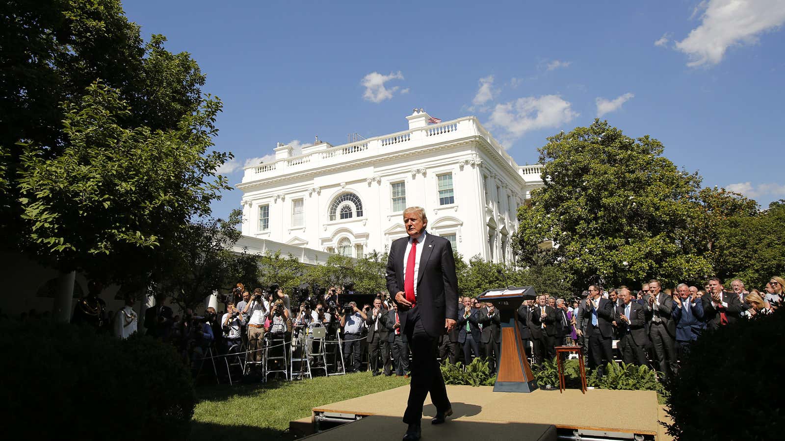
<path id="1" fill-rule="evenodd" d="M 502 129 L 507 140 L 516 140 L 531 130 L 561 126 L 578 115 L 571 104 L 558 95 L 524 97 L 496 104 L 488 126 Z"/>

